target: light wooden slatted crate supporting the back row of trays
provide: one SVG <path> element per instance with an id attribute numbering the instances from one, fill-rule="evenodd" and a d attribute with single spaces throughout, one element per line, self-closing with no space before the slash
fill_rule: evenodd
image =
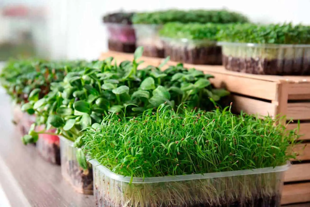
<path id="1" fill-rule="evenodd" d="M 100 59 L 113 56 L 119 62 L 132 60 L 132 54 L 118 52 L 103 53 Z M 163 59 L 141 57 L 147 65 L 158 66 Z M 169 61 L 165 67 L 175 65 Z M 196 68 L 215 76 L 211 82 L 215 87 L 224 87 L 232 93 L 235 110 L 243 110 L 250 114 L 286 115 L 287 120 L 301 120 L 301 140 L 294 151 L 302 151 L 298 156 L 300 163 L 294 162 L 285 174 L 282 204 L 310 201 L 310 76 L 272 76 L 253 75 L 225 70 L 223 66 L 184 64 L 188 68 Z M 308 123 L 307 123 L 308 121 Z M 297 127 L 296 121 L 288 125 L 288 129 Z M 294 160 L 292 160 L 294 161 Z M 307 182 L 308 181 L 308 182 Z M 309 205 L 310 206 L 310 205 Z"/>

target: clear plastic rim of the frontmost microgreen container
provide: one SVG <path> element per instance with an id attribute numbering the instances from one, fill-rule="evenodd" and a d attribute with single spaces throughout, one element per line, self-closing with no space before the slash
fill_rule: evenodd
<path id="1" fill-rule="evenodd" d="M 277 167 L 236 170 L 236 171 L 227 171 L 227 172 L 218 172 L 218 173 L 151 177 L 151 178 L 144 178 L 143 180 L 143 178 L 137 178 L 137 177 L 131 178 L 129 176 L 122 176 L 122 175 L 113 173 L 111 170 L 101 165 L 95 159 L 89 159 L 88 162 L 90 162 L 93 165 L 93 169 L 95 167 L 98 168 L 101 172 L 104 173 L 105 176 L 108 176 L 109 178 L 112 178 L 120 182 L 128 182 L 128 183 L 173 182 L 173 181 L 232 177 L 232 176 L 238 176 L 238 175 L 240 176 L 240 175 L 253 175 L 253 174 L 263 174 L 263 173 L 277 173 L 277 172 L 286 171 L 291 166 L 290 162 L 288 161 L 285 165 L 281 165 Z"/>

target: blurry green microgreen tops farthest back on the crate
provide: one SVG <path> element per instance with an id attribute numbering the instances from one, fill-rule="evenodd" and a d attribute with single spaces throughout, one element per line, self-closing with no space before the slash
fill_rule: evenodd
<path id="1" fill-rule="evenodd" d="M 136 13 L 132 22 L 134 24 L 165 24 L 168 22 L 181 23 L 218 23 L 248 22 L 246 16 L 227 10 L 165 10 L 155 12 Z"/>

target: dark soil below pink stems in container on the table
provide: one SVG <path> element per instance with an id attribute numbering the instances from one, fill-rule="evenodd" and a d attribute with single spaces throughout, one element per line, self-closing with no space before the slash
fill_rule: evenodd
<path id="1" fill-rule="evenodd" d="M 60 165 L 59 143 L 51 143 L 44 139 L 39 142 L 44 142 L 42 144 L 40 143 L 40 147 L 37 147 L 39 154 L 48 162 Z"/>

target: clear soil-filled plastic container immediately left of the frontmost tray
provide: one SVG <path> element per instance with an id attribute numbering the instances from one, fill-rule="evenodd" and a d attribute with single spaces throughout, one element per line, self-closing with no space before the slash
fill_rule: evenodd
<path id="1" fill-rule="evenodd" d="M 61 174 L 74 188 L 83 194 L 93 195 L 93 171 L 91 164 L 83 169 L 76 158 L 77 149 L 73 142 L 60 136 Z"/>

